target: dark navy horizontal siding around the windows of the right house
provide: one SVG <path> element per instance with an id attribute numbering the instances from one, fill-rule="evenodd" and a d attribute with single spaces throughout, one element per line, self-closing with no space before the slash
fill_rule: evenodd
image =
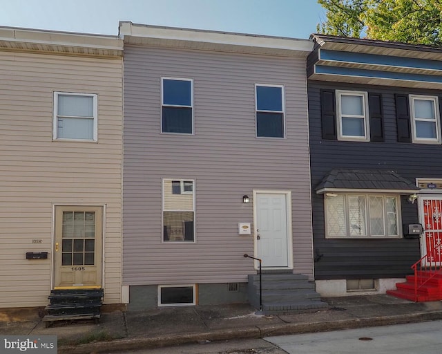
<path id="1" fill-rule="evenodd" d="M 381 93 L 384 142 L 345 142 L 321 138 L 320 88 Z M 333 168 L 392 169 L 414 182 L 415 178 L 442 178 L 442 146 L 397 142 L 394 94 L 438 95 L 439 91 L 412 88 L 309 82 L 311 185 L 313 191 Z M 441 100 L 439 98 L 439 100 Z M 417 203 L 401 198 L 402 222 L 417 223 Z M 419 239 L 325 239 L 323 196 L 312 194 L 314 248 L 323 254 L 315 263 L 316 279 L 403 277 L 418 261 Z"/>

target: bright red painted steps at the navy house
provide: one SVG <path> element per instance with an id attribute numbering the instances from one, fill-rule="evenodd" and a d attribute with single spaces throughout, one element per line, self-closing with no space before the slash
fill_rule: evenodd
<path id="1" fill-rule="evenodd" d="M 437 274 L 425 271 L 419 272 L 417 292 L 414 291 L 415 276 L 408 275 L 406 280 L 405 283 L 396 283 L 396 290 L 387 290 L 387 294 L 416 302 L 442 300 L 442 272 Z"/>

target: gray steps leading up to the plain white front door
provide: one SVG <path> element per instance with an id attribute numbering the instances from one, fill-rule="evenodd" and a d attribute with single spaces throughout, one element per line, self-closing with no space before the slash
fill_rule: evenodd
<path id="1" fill-rule="evenodd" d="M 250 304 L 259 309 L 259 274 L 249 274 L 248 295 Z M 264 315 L 305 313 L 327 307 L 328 304 L 320 301 L 320 295 L 307 275 L 274 270 L 262 273 L 262 313 Z"/>

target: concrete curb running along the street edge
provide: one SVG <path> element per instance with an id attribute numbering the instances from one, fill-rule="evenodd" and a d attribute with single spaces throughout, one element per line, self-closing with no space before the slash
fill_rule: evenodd
<path id="1" fill-rule="evenodd" d="M 229 328 L 213 330 L 203 333 L 161 335 L 157 337 L 133 337 L 116 339 L 111 342 L 94 342 L 77 346 L 60 346 L 58 353 L 63 354 L 90 354 L 104 351 L 128 351 L 143 348 L 159 348 L 177 346 L 205 341 L 220 341 L 229 339 L 250 339 L 271 337 L 274 335 L 295 335 L 301 333 L 327 332 L 330 330 L 345 330 L 373 326 L 387 326 L 392 324 L 406 324 L 411 322 L 426 322 L 442 319 L 442 311 L 428 313 L 412 313 L 407 315 L 392 315 L 369 317 L 361 319 L 343 319 L 329 322 L 314 322 L 307 324 L 278 324 L 267 326 L 249 326 L 244 328 Z"/>

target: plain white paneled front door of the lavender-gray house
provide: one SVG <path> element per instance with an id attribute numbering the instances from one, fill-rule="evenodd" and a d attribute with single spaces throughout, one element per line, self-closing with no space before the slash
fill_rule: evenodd
<path id="1" fill-rule="evenodd" d="M 262 268 L 289 267 L 289 194 L 256 192 L 254 237 Z"/>

